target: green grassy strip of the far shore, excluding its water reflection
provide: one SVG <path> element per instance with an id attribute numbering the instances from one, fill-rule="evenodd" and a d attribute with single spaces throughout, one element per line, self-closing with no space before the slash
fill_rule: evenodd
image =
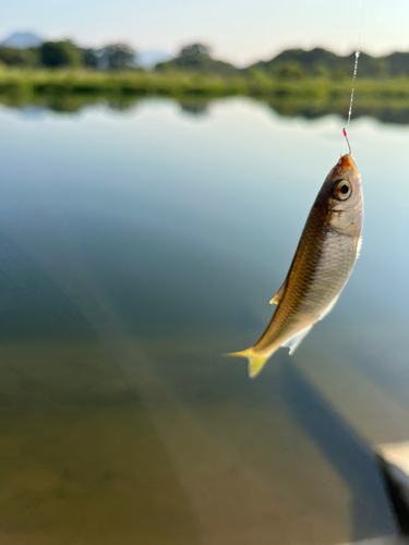
<path id="1" fill-rule="evenodd" d="M 217 77 L 187 73 L 23 71 L 0 70 L 0 94 L 103 94 L 228 96 L 246 95 L 273 98 L 291 97 L 313 100 L 345 101 L 349 80 L 304 78 L 282 81 L 254 74 L 248 77 Z M 407 101 L 409 78 L 361 80 L 356 83 L 357 100 Z"/>

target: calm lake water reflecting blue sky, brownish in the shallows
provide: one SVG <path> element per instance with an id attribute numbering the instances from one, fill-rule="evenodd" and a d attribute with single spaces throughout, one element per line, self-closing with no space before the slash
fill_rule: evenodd
<path id="1" fill-rule="evenodd" d="M 409 125 L 350 126 L 363 246 L 330 315 L 254 380 L 337 117 L 0 109 L 0 542 L 393 535 L 373 449 L 409 439 Z"/>

